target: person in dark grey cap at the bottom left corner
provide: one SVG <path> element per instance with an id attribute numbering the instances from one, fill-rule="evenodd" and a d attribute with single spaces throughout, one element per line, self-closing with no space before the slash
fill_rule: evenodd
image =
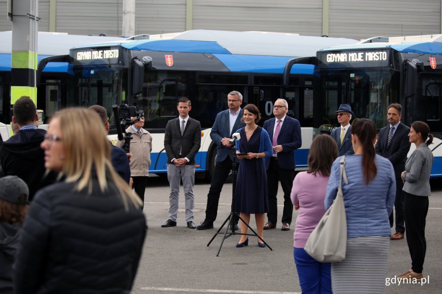
<path id="1" fill-rule="evenodd" d="M 0 293 L 14 293 L 12 263 L 28 212 L 29 189 L 15 175 L 0 178 Z"/>

